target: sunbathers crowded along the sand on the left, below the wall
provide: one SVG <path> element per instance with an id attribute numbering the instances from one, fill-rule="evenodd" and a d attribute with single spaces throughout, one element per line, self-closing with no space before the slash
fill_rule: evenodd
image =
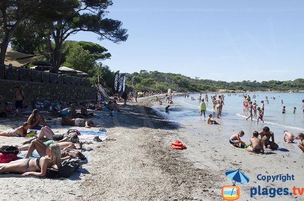
<path id="1" fill-rule="evenodd" d="M 44 177 L 47 174 L 47 169 L 60 169 L 61 164 L 69 158 L 77 158 L 84 160 L 82 154 L 82 143 L 78 137 L 80 132 L 79 127 L 100 128 L 102 125 L 94 123 L 94 119 L 99 119 L 100 116 L 94 114 L 95 111 L 107 111 L 110 116 L 120 111 L 120 106 L 127 107 L 127 101 L 137 102 L 138 97 L 150 97 L 160 95 L 155 92 L 124 92 L 115 94 L 111 98 L 103 99 L 102 93 L 97 93 L 97 100 L 80 101 L 77 97 L 73 101 L 57 101 L 57 100 L 42 100 L 37 97 L 33 110 L 26 108 L 25 92 L 19 87 L 15 87 L 14 100 L 15 102 L 5 101 L 3 94 L 0 96 L 0 114 L 2 118 L 20 119 L 27 116 L 27 121 L 16 129 L 1 130 L 0 136 L 3 137 L 28 137 L 36 135 L 36 137 L 28 144 L 15 145 L 9 149 L 16 148 L 18 151 L 27 150 L 24 158 L 13 160 L 6 158 L 6 152 L 2 152 L 2 159 L 8 159 L 7 162 L 0 164 L 0 174 L 6 172 L 22 173 L 22 175 L 34 175 Z M 172 99 L 171 99 L 172 101 Z M 119 104 L 121 103 L 121 104 Z M 89 109 L 89 111 L 88 111 Z M 40 112 L 43 111 L 43 112 Z M 93 112 L 92 112 L 93 111 Z M 61 125 L 72 126 L 74 129 L 68 130 L 64 134 L 55 134 L 48 125 L 48 119 L 43 113 L 51 113 L 53 116 L 61 117 Z M 104 128 L 101 128 L 105 131 Z M 32 134 L 32 135 L 30 135 Z M 98 136 L 94 137 L 94 141 L 101 141 Z M 8 147 L 0 147 L 6 150 Z M 33 157 L 33 151 L 36 150 L 39 157 Z M 8 152 L 10 153 L 10 152 Z"/>

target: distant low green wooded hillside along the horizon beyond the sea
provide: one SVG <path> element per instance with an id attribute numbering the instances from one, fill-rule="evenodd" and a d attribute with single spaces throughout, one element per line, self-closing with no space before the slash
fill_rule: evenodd
<path id="1" fill-rule="evenodd" d="M 127 90 L 140 91 L 210 91 L 232 90 L 232 91 L 304 91 L 304 79 L 298 78 L 294 81 L 243 81 L 223 82 L 211 79 L 190 78 L 181 74 L 164 73 L 158 71 L 140 70 L 132 74 L 126 73 Z"/>

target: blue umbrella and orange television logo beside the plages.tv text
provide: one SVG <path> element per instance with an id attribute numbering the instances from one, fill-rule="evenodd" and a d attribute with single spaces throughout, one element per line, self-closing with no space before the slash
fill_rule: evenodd
<path id="1" fill-rule="evenodd" d="M 239 170 L 227 170 L 225 175 L 234 182 L 232 186 L 222 187 L 222 196 L 226 200 L 236 200 L 240 197 L 240 188 L 236 186 L 236 182 L 248 183 L 250 179 Z"/>

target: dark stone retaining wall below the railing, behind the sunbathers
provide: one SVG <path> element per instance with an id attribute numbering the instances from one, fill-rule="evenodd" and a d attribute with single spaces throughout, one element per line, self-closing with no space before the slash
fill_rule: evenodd
<path id="1" fill-rule="evenodd" d="M 15 86 L 21 87 L 21 90 L 25 93 L 25 102 L 29 107 L 33 105 L 33 102 L 37 97 L 40 97 L 41 100 L 58 100 L 67 102 L 69 100 L 75 100 L 76 97 L 79 97 L 79 101 L 97 99 L 97 92 L 95 92 L 94 88 L 91 86 L 0 79 L 0 94 L 3 94 L 3 101 L 14 101 Z"/>

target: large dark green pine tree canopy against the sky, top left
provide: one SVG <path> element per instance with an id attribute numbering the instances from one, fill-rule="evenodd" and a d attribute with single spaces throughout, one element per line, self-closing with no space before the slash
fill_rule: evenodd
<path id="1" fill-rule="evenodd" d="M 106 9 L 112 5 L 111 0 L 45 1 L 48 4 L 38 5 L 36 13 L 27 13 L 20 18 L 14 30 L 20 25 L 19 30 L 22 31 L 14 34 L 12 43 L 13 47 L 20 50 L 25 50 L 24 47 L 29 45 L 26 53 L 32 53 L 35 50 L 39 51 L 40 54 L 53 63 L 53 72 L 57 72 L 62 62 L 64 62 L 61 58 L 63 42 L 71 34 L 77 34 L 80 31 L 93 32 L 98 36 L 99 40 L 107 39 L 113 43 L 121 43 L 128 38 L 127 29 L 122 27 L 121 21 L 106 18 Z M 21 6 L 19 7 L 21 8 Z M 15 10 L 18 10 L 19 7 L 15 6 Z M 7 15 L 9 12 L 4 13 Z M 5 21 L 4 17 L 3 21 Z M 12 36 L 13 33 L 11 34 Z M 7 39 L 7 44 L 10 42 L 11 37 Z M 79 45 L 84 50 L 89 51 L 89 54 L 93 57 L 92 59 L 102 60 L 110 57 L 109 53 L 103 54 L 106 49 L 101 46 L 90 44 L 89 42 L 83 42 L 83 44 Z M 80 47 L 77 47 L 73 51 L 80 50 Z M 72 62 L 71 58 L 69 60 Z"/>

